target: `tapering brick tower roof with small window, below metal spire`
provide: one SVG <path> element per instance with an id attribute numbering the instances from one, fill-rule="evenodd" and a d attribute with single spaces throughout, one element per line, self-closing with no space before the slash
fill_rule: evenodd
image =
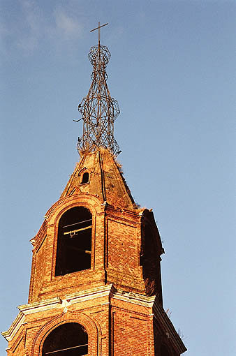
<path id="1" fill-rule="evenodd" d="M 84 174 L 87 174 L 85 180 Z M 61 198 L 80 193 L 96 195 L 101 202 L 121 209 L 136 208 L 122 175 L 121 165 L 117 163 L 109 149 L 99 148 L 82 155 Z"/>

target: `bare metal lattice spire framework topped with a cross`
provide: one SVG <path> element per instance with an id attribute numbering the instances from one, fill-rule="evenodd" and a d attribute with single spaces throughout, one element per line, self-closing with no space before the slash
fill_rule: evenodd
<path id="1" fill-rule="evenodd" d="M 82 114 L 83 134 L 82 138 L 78 138 L 77 149 L 83 154 L 86 151 L 95 151 L 98 147 L 104 147 L 117 156 L 120 151 L 114 138 L 114 122 L 120 111 L 117 101 L 110 96 L 106 82 L 108 75 L 105 68 L 110 59 L 110 52 L 108 47 L 100 44 L 100 29 L 105 25 L 107 24 L 100 26 L 98 22 L 98 27 L 96 27 L 98 45 L 91 47 L 88 55 L 94 69 L 91 74 L 92 82 L 89 92 L 78 105 L 78 110 Z"/>

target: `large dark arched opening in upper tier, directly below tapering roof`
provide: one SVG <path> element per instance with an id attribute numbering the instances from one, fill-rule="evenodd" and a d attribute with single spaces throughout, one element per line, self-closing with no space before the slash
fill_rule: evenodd
<path id="1" fill-rule="evenodd" d="M 85 207 L 73 207 L 61 216 L 55 276 L 91 268 L 91 223 Z"/>

